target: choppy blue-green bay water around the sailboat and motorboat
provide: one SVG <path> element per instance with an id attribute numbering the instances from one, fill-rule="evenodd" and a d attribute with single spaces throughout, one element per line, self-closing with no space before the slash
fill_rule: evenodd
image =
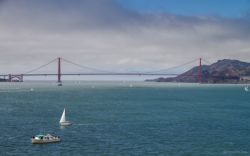
<path id="1" fill-rule="evenodd" d="M 64 107 L 73 125 L 61 129 Z M 239 85 L 1 83 L 0 112 L 1 156 L 250 155 L 250 92 Z M 39 133 L 62 141 L 32 145 Z"/>

